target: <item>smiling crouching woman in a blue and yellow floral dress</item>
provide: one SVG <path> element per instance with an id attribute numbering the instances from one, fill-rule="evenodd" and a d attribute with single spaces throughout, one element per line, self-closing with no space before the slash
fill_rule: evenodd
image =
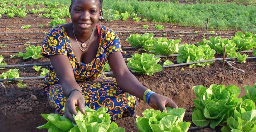
<path id="1" fill-rule="evenodd" d="M 116 120 L 134 115 L 135 96 L 154 109 L 177 108 L 171 99 L 147 90 L 130 73 L 117 34 L 97 25 L 101 4 L 102 0 L 72 0 L 72 23 L 52 28 L 43 43 L 41 54 L 51 61 L 44 93 L 55 113 L 74 121 L 76 106 L 82 113 L 85 105 L 94 110 L 105 106 L 111 120 Z M 101 76 L 107 60 L 115 79 Z"/>

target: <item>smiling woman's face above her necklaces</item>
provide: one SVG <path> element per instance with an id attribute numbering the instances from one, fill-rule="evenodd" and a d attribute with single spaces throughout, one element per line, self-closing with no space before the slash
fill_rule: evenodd
<path id="1" fill-rule="evenodd" d="M 74 28 L 79 33 L 88 33 L 98 22 L 100 16 L 99 0 L 73 0 L 69 7 Z"/>

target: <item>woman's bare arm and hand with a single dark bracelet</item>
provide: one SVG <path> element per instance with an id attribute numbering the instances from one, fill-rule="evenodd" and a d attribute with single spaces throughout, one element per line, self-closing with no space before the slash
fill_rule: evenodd
<path id="1" fill-rule="evenodd" d="M 84 113 L 84 97 L 81 94 L 80 86 L 74 78 L 72 65 L 66 55 L 54 55 L 49 56 L 49 58 L 53 65 L 53 69 L 61 82 L 64 96 L 68 97 L 68 94 L 73 89 L 78 90 L 72 91 L 65 103 L 65 117 L 74 121 L 72 114 L 78 114 L 75 106 L 78 106 L 79 110 Z"/>

